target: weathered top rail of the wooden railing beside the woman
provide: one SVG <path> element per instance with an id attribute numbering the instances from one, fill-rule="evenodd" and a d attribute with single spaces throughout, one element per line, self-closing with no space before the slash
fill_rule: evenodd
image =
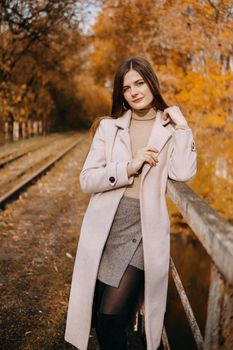
<path id="1" fill-rule="evenodd" d="M 212 258 L 233 284 L 233 226 L 185 183 L 168 180 L 167 193 Z"/>

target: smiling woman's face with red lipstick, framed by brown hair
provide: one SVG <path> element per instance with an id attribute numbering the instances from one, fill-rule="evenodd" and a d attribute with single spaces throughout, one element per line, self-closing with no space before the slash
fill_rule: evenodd
<path id="1" fill-rule="evenodd" d="M 153 95 L 142 76 L 134 69 L 128 71 L 123 81 L 123 96 L 132 109 L 152 107 Z"/>

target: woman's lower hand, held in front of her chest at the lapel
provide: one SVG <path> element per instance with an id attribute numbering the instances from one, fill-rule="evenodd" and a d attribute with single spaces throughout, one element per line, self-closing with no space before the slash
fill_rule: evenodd
<path id="1" fill-rule="evenodd" d="M 131 176 L 139 171 L 139 169 L 142 167 L 143 163 L 149 163 L 151 166 L 156 166 L 158 163 L 158 158 L 156 157 L 156 153 L 159 151 L 152 147 L 147 146 L 140 148 L 135 157 L 133 158 L 132 162 L 128 164 L 128 175 Z"/>

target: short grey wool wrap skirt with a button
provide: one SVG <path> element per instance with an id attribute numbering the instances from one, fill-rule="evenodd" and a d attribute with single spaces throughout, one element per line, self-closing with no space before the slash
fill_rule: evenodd
<path id="1" fill-rule="evenodd" d="M 103 249 L 97 278 L 118 287 L 128 265 L 144 270 L 140 199 L 123 196 Z"/>

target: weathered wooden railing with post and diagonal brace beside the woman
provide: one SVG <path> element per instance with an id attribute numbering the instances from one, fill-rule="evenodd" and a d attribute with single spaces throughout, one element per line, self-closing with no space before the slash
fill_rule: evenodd
<path id="1" fill-rule="evenodd" d="M 168 180 L 167 194 L 211 258 L 210 286 L 202 336 L 172 257 L 170 271 L 197 349 L 233 349 L 233 226 L 215 212 L 187 184 Z M 141 322 L 143 324 L 144 322 Z M 165 326 L 162 342 L 170 349 Z M 172 349 L 171 349 L 172 350 Z"/>

